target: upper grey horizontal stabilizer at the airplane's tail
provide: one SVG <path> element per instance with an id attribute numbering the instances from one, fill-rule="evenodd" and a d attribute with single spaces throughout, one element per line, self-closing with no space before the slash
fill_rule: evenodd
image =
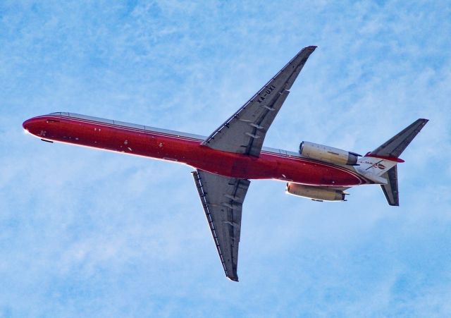
<path id="1" fill-rule="evenodd" d="M 428 119 L 417 119 L 414 123 L 404 128 L 400 133 L 391 137 L 390 140 L 384 142 L 383 145 L 374 149 L 370 154 L 383 157 L 400 157 L 400 154 L 406 149 L 414 137 L 420 132 L 421 128 L 426 125 Z"/>

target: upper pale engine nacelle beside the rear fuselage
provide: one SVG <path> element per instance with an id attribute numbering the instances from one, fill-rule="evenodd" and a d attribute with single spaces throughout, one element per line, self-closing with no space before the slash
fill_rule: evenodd
<path id="1" fill-rule="evenodd" d="M 355 152 L 347 152 L 342 149 L 314 144 L 313 142 L 303 141 L 299 145 L 299 154 L 309 159 L 328 162 L 329 164 L 349 164 L 357 165 L 357 159 L 362 157 Z"/>

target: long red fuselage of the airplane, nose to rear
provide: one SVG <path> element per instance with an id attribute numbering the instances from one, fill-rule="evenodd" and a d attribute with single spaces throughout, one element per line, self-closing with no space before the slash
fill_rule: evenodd
<path id="1" fill-rule="evenodd" d="M 78 114 L 37 116 L 25 121 L 23 127 L 42 140 L 175 161 L 233 178 L 332 187 L 369 183 L 352 166 L 326 164 L 294 152 L 264 147 L 260 157 L 250 157 L 203 146 L 202 136 Z"/>

